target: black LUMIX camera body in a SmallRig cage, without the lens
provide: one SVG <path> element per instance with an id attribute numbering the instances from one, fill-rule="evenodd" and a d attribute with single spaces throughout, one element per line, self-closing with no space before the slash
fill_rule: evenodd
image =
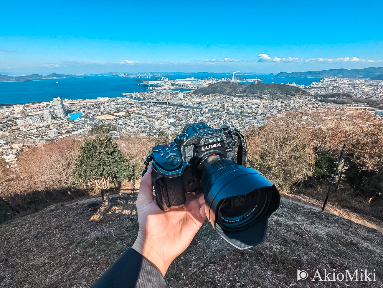
<path id="1" fill-rule="evenodd" d="M 213 129 L 202 122 L 187 125 L 175 142 L 154 146 L 152 151 L 152 181 L 158 206 L 164 211 L 184 205 L 187 192 L 203 192 L 197 181 L 198 171 L 193 169 L 198 159 L 224 155 L 246 167 L 245 138 L 228 126 Z"/>

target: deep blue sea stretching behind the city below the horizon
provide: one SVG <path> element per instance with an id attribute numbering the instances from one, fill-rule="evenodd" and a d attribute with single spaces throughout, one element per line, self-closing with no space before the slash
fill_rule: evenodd
<path id="1" fill-rule="evenodd" d="M 184 75 L 161 75 L 169 79 L 182 78 L 222 78 L 231 77 L 232 74 L 215 75 L 210 74 L 184 74 Z M 319 82 L 321 78 L 292 78 L 276 77 L 272 75 L 242 75 L 246 78 L 258 78 L 260 82 L 273 84 L 296 83 L 298 85 L 310 85 L 312 82 Z M 120 97 L 121 93 L 144 92 L 146 90 L 140 82 L 135 80 L 155 80 L 121 77 L 121 76 L 90 76 L 89 78 L 59 78 L 59 79 L 35 79 L 20 82 L 0 82 L 0 104 L 18 104 L 51 101 L 60 96 L 63 99 L 97 99 L 97 97 Z M 180 90 L 180 89 L 175 89 Z"/>

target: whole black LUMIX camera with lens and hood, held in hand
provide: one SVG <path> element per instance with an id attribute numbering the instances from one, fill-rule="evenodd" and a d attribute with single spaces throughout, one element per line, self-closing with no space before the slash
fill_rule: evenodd
<path id="1" fill-rule="evenodd" d="M 206 216 L 222 238 L 239 249 L 264 241 L 280 195 L 262 173 L 246 168 L 246 139 L 239 130 L 190 124 L 174 142 L 152 151 L 145 164 L 153 161 L 152 183 L 162 210 L 182 207 L 187 193 L 203 193 Z"/>

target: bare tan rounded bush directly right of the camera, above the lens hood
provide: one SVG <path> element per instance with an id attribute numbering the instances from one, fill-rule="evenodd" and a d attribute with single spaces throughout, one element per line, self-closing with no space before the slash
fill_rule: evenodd
<path id="1" fill-rule="evenodd" d="M 312 129 L 296 121 L 296 114 L 275 118 L 247 132 L 249 165 L 265 174 L 278 189 L 288 191 L 313 173 Z"/>

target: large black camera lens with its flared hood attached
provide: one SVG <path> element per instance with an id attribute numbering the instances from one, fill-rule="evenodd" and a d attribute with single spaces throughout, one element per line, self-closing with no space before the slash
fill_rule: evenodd
<path id="1" fill-rule="evenodd" d="M 212 154 L 197 163 L 206 216 L 216 232 L 239 249 L 264 241 L 268 217 L 280 202 L 275 185 L 225 156 Z"/>

